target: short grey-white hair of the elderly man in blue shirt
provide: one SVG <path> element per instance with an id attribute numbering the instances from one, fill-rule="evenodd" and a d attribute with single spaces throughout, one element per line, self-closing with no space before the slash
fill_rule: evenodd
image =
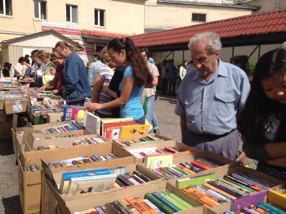
<path id="1" fill-rule="evenodd" d="M 206 51 L 209 55 L 215 54 L 221 50 L 220 37 L 215 32 L 203 32 L 195 34 L 189 41 L 188 48 L 191 50 L 196 43 L 206 44 Z"/>

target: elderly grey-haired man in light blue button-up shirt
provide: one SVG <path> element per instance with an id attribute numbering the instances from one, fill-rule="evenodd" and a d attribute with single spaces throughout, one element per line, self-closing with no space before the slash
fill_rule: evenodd
<path id="1" fill-rule="evenodd" d="M 243 70 L 219 59 L 221 46 L 214 32 L 191 38 L 188 47 L 195 68 L 186 74 L 178 89 L 175 113 L 181 116 L 184 144 L 246 164 L 244 152 L 238 156 L 236 116 L 250 84 Z"/>

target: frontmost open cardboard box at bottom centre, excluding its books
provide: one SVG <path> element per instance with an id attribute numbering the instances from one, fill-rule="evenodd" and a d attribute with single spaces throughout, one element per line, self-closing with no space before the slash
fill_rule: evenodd
<path id="1" fill-rule="evenodd" d="M 125 189 L 116 189 L 112 192 L 106 194 L 105 192 L 101 193 L 94 193 L 88 197 L 74 197 L 74 199 L 66 198 L 67 195 L 59 195 L 53 189 L 50 182 L 45 180 L 47 185 L 49 186 L 49 190 L 55 196 L 57 200 L 57 214 L 64 213 L 64 214 L 72 214 L 77 211 L 88 210 L 90 208 L 94 208 L 97 205 L 103 205 L 108 202 L 113 202 L 115 200 L 125 199 L 127 197 L 132 196 L 139 196 L 140 198 L 144 199 L 144 195 L 146 193 L 152 193 L 158 190 L 169 189 L 188 203 L 192 204 L 193 208 L 183 210 L 177 212 L 178 214 L 203 214 L 204 207 L 203 204 L 196 199 L 188 196 L 187 194 L 183 193 L 181 190 L 175 188 L 174 186 L 170 185 L 167 182 L 161 183 L 146 183 L 144 185 L 134 185 L 130 188 Z M 108 204 L 109 205 L 109 204 Z M 118 212 L 111 206 L 106 206 L 107 214 L 118 214 Z"/>

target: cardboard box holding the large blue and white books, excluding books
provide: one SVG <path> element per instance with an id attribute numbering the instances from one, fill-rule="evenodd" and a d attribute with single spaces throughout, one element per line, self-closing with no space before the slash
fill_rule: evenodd
<path id="1" fill-rule="evenodd" d="M 152 179 L 152 181 L 150 181 L 148 183 L 164 182 L 164 180 L 161 177 L 157 176 L 153 172 L 150 172 L 148 169 L 146 169 L 141 164 L 134 163 L 134 164 L 130 164 L 130 165 L 125 165 L 125 167 L 126 167 L 126 172 L 132 173 L 134 170 L 139 170 L 140 172 L 145 174 L 147 177 L 150 177 Z M 62 170 L 62 171 L 53 170 L 53 177 L 54 177 L 55 181 L 57 182 L 57 184 L 60 184 L 62 175 L 65 172 L 85 171 L 85 170 L 91 170 L 91 169 L 98 169 L 98 168 L 90 168 L 90 167 L 83 168 L 82 167 L 82 168 L 78 168 L 78 169 L 69 169 L 69 170 Z M 42 175 L 42 184 L 45 184 L 45 177 L 43 175 Z M 141 185 L 145 185 L 145 184 L 141 184 Z M 125 187 L 125 188 L 130 188 L 130 187 Z M 104 193 L 109 194 L 112 191 L 113 190 L 105 191 Z M 42 214 L 56 213 L 56 210 L 55 210 L 56 201 L 55 201 L 53 194 L 49 191 L 48 185 L 42 185 L 42 193 L 43 192 L 45 194 L 42 194 Z M 59 195 L 59 196 L 64 196 L 65 200 L 73 200 L 75 197 L 80 197 L 80 198 L 81 197 L 89 197 L 89 196 L 92 196 L 94 194 L 97 194 L 97 193 L 85 193 L 85 194 L 81 194 L 79 196 L 72 196 L 72 195 L 64 194 L 64 195 Z"/>

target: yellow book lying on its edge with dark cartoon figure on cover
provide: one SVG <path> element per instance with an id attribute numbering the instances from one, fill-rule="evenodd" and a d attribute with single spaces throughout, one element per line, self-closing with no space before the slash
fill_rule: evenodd
<path id="1" fill-rule="evenodd" d="M 122 126 L 119 138 L 135 137 L 149 133 L 149 125 L 126 125 Z"/>

